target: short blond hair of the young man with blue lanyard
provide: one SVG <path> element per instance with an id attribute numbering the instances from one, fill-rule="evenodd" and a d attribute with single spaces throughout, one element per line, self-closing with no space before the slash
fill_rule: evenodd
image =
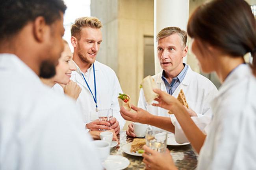
<path id="1" fill-rule="evenodd" d="M 83 27 L 102 28 L 100 20 L 96 17 L 81 17 L 75 20 L 71 26 L 71 36 L 80 38 L 80 31 Z"/>

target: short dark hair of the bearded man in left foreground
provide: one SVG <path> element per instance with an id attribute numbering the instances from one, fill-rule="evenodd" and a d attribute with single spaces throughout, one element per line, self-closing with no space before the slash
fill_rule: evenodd
<path id="1" fill-rule="evenodd" d="M 0 40 L 19 32 L 38 16 L 50 25 L 65 13 L 63 0 L 2 0 L 0 3 Z"/>

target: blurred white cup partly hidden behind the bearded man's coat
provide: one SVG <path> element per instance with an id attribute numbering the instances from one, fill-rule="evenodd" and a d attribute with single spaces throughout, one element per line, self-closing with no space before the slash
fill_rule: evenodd
<path id="1" fill-rule="evenodd" d="M 110 144 L 107 141 L 96 140 L 93 141 L 96 152 L 100 157 L 100 161 L 105 161 L 110 154 Z"/>

